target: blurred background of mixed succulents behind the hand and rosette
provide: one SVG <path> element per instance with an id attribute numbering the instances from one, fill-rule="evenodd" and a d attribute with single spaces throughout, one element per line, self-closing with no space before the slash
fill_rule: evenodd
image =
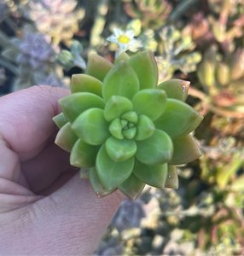
<path id="1" fill-rule="evenodd" d="M 0 96 L 68 88 L 91 53 L 150 49 L 159 83 L 190 81 L 187 103 L 205 117 L 179 189 L 125 199 L 96 256 L 244 255 L 243 33 L 243 0 L 0 0 Z"/>

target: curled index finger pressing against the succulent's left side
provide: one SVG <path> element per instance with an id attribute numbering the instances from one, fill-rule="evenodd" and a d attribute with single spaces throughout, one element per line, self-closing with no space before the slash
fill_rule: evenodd
<path id="1" fill-rule="evenodd" d="M 32 152 L 55 131 L 52 117 L 61 112 L 58 100 L 69 90 L 49 86 L 33 86 L 3 96 L 0 100 L 0 177 L 10 180 L 19 154 Z M 36 152 L 38 154 L 38 152 Z M 26 154 L 25 159 L 33 157 Z"/>

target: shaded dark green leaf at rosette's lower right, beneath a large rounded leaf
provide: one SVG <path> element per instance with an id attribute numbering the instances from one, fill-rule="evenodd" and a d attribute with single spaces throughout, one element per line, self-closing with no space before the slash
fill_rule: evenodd
<path id="1" fill-rule="evenodd" d="M 166 177 L 168 173 L 167 170 L 167 164 L 160 166 L 148 166 L 135 159 L 133 173 L 143 183 L 147 183 L 148 185 L 158 189 L 165 189 Z"/>

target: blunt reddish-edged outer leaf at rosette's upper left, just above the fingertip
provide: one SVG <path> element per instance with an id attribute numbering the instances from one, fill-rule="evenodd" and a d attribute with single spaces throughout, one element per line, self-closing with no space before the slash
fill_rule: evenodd
<path id="1" fill-rule="evenodd" d="M 72 93 L 90 92 L 102 97 L 102 82 L 90 75 L 76 73 L 72 76 L 70 90 Z"/>

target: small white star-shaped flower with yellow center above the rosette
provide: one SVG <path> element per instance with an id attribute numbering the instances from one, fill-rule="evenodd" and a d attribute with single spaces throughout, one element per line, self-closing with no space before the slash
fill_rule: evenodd
<path id="1" fill-rule="evenodd" d="M 108 37 L 107 41 L 119 44 L 119 47 L 122 50 L 130 49 L 135 52 L 138 47 L 141 47 L 141 41 L 135 39 L 134 36 L 134 30 L 130 29 L 124 32 L 119 28 L 113 28 L 113 35 Z"/>

